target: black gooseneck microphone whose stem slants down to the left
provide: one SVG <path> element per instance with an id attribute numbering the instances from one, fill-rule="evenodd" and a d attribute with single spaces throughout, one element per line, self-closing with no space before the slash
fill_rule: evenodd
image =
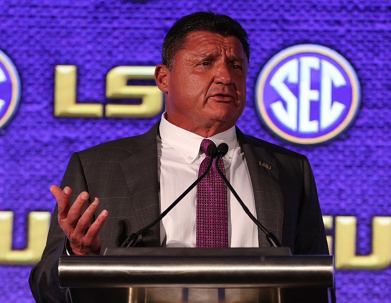
<path id="1" fill-rule="evenodd" d="M 228 146 L 227 146 L 228 151 Z M 152 228 L 157 222 L 159 222 L 161 219 L 163 219 L 173 208 L 176 204 L 179 203 L 180 200 L 184 198 L 185 195 L 189 194 L 189 192 L 202 180 L 202 178 L 210 171 L 213 163 L 213 159 L 217 156 L 217 147 L 214 142 L 212 142 L 206 149 L 206 153 L 209 155 L 209 162 L 208 166 L 205 169 L 205 173 L 201 174 L 198 179 L 196 179 L 192 185 L 190 185 L 183 193 L 180 195 L 163 213 L 161 213 L 157 218 L 155 218 L 150 224 L 143 227 L 139 231 L 130 234 L 128 238 L 125 239 L 125 241 L 121 244 L 121 247 L 133 247 L 136 245 L 138 236 L 140 236 L 142 233 L 146 232 L 150 228 Z"/>

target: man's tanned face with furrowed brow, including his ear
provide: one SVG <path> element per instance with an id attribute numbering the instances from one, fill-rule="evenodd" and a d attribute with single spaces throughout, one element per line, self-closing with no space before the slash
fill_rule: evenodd
<path id="1" fill-rule="evenodd" d="M 161 68 L 164 81 L 159 81 Z M 238 38 L 208 31 L 189 33 L 172 69 L 156 68 L 156 82 L 166 93 L 168 121 L 203 136 L 231 128 L 246 103 L 247 69 Z"/>

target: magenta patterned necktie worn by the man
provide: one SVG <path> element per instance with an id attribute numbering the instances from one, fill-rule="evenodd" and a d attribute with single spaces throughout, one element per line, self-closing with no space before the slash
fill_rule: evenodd
<path id="1" fill-rule="evenodd" d="M 211 143 L 209 139 L 201 142 L 200 150 L 206 154 L 206 158 L 199 166 L 198 177 L 208 166 L 206 149 Z M 197 185 L 196 247 L 228 247 L 227 186 L 218 175 L 215 162 L 216 158 L 209 173 Z M 225 175 L 222 159 L 218 161 L 218 168 Z"/>

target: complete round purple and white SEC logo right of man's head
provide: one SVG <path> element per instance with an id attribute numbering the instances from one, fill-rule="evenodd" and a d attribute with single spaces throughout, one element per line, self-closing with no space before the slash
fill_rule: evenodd
<path id="1" fill-rule="evenodd" d="M 281 138 L 317 144 L 346 130 L 360 107 L 360 84 L 348 61 L 321 45 L 301 44 L 262 68 L 256 103 L 264 124 Z"/>

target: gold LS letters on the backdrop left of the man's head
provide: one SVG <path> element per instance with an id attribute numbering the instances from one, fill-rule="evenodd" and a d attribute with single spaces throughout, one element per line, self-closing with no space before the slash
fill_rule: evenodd
<path id="1" fill-rule="evenodd" d="M 78 103 L 76 65 L 56 65 L 54 115 L 56 117 L 147 118 L 163 109 L 163 93 L 152 85 L 128 85 L 131 80 L 153 80 L 155 66 L 116 66 L 106 75 L 106 98 L 141 99 L 139 104 Z"/>

